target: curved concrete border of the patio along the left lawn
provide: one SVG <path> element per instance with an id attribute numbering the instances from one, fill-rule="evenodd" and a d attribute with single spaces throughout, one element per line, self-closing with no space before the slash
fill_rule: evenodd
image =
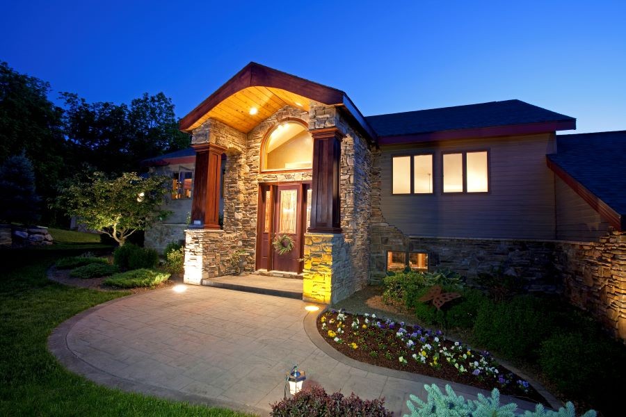
<path id="1" fill-rule="evenodd" d="M 167 288 L 162 288 L 153 291 L 166 290 Z M 145 395 L 152 395 L 154 397 L 165 398 L 166 400 L 188 402 L 190 404 L 202 404 L 209 407 L 222 407 L 241 411 L 243 413 L 257 414 L 259 416 L 267 415 L 267 411 L 265 410 L 257 409 L 256 407 L 244 406 L 243 404 L 240 404 L 238 402 L 227 402 L 214 398 L 207 399 L 206 397 L 202 397 L 200 395 L 186 394 L 180 391 L 166 389 L 160 386 L 154 386 L 151 384 L 145 384 L 143 382 L 136 382 L 131 381 L 130 379 L 118 377 L 116 375 L 106 372 L 106 370 L 99 369 L 91 365 L 90 363 L 83 361 L 83 359 L 77 357 L 77 355 L 74 354 L 72 350 L 70 350 L 70 347 L 67 346 L 67 334 L 72 331 L 72 328 L 74 327 L 74 325 L 77 324 L 77 322 L 79 322 L 86 316 L 95 313 L 99 309 L 104 308 L 105 306 L 109 306 L 111 304 L 119 302 L 120 300 L 126 300 L 129 297 L 136 297 L 138 295 L 142 294 L 139 293 L 127 295 L 125 297 L 119 297 L 115 300 L 110 300 L 102 304 L 98 304 L 97 306 L 93 306 L 92 308 L 82 311 L 76 316 L 65 320 L 61 323 L 61 325 L 58 325 L 58 327 L 56 327 L 56 329 L 54 329 L 48 337 L 48 350 L 67 370 L 86 377 L 86 379 L 89 379 L 90 381 L 95 382 L 98 385 L 106 386 L 111 389 L 119 389 L 121 391 L 131 393 L 142 393 Z"/>

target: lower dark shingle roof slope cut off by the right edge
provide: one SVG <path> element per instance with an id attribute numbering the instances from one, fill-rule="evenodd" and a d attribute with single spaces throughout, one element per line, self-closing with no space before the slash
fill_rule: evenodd
<path id="1" fill-rule="evenodd" d="M 626 131 L 556 136 L 556 154 L 548 158 L 614 211 L 626 215 Z"/>

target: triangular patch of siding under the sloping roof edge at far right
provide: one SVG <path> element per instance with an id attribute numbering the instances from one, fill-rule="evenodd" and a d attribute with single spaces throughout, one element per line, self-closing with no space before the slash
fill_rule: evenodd
<path id="1" fill-rule="evenodd" d="M 556 238 L 591 241 L 607 234 L 609 223 L 602 219 L 568 184 L 556 177 Z"/>

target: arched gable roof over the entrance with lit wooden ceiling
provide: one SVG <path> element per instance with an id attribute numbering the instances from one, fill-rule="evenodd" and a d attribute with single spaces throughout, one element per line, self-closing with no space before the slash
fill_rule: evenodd
<path id="1" fill-rule="evenodd" d="M 342 90 L 314 83 L 257 63 L 249 63 L 226 81 L 180 121 L 180 130 L 190 133 L 209 118 L 214 118 L 243 133 L 284 106 L 309 111 L 310 100 L 337 106 L 371 140 L 376 133 L 351 99 Z M 252 108 L 255 111 L 250 111 Z"/>

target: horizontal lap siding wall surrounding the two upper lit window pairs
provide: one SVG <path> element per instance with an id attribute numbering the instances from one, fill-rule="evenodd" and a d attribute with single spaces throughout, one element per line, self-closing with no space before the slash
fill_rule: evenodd
<path id="1" fill-rule="evenodd" d="M 554 239 L 554 176 L 545 155 L 550 135 L 457 140 L 383 148 L 382 209 L 404 234 L 467 238 Z M 442 152 L 490 152 L 490 193 L 442 194 Z M 432 195 L 392 195 L 392 156 L 433 152 Z"/>

